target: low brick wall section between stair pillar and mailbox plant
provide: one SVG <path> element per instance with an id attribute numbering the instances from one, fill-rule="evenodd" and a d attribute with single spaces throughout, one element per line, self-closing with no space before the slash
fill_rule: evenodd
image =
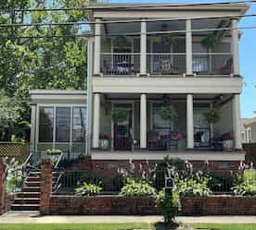
<path id="1" fill-rule="evenodd" d="M 52 196 L 50 214 L 151 215 L 160 212 L 152 198 Z"/>

